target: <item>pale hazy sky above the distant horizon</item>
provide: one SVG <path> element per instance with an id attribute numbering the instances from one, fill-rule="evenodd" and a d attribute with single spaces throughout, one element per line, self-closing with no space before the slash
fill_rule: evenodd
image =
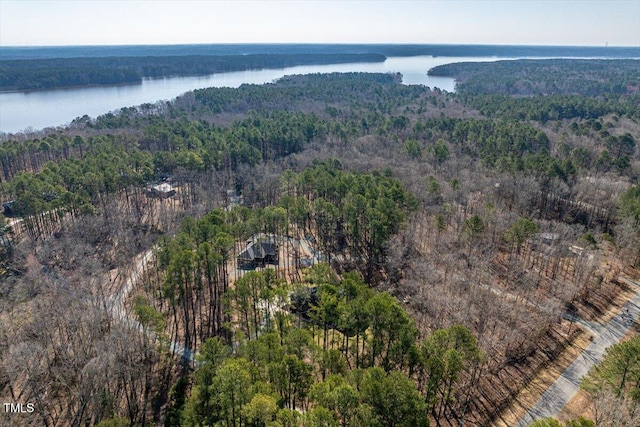
<path id="1" fill-rule="evenodd" d="M 640 46 L 640 0 L 0 0 L 0 45 Z"/>

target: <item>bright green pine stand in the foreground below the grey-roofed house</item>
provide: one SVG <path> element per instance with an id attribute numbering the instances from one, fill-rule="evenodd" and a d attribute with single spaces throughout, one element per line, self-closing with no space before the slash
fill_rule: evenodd
<path id="1" fill-rule="evenodd" d="M 264 274 L 250 277 L 263 281 Z M 297 426 L 290 410 L 306 408 L 304 422 L 313 425 L 427 426 L 428 413 L 441 417 L 454 402 L 459 377 L 483 362 L 462 326 L 419 344 L 408 313 L 356 273 L 340 279 L 320 265 L 309 278 L 318 293 L 312 321 L 323 332 L 313 323 L 265 331 L 233 353 L 218 338 L 204 341 L 183 411 L 186 425 Z M 335 334 L 342 334 L 342 345 L 329 339 Z"/>

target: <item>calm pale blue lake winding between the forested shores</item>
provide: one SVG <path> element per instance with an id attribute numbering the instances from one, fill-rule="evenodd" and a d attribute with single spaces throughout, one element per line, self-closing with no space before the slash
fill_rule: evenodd
<path id="1" fill-rule="evenodd" d="M 144 79 L 140 84 L 79 87 L 33 92 L 0 93 L 0 132 L 16 133 L 69 124 L 85 114 L 96 117 L 122 107 L 171 100 L 185 92 L 206 87 L 238 87 L 264 84 L 291 74 L 368 72 L 402 73 L 404 84 L 420 84 L 453 92 L 454 81 L 431 77 L 427 71 L 453 62 L 486 62 L 516 58 L 491 57 L 391 57 L 385 62 L 310 65 L 280 69 L 236 71 L 199 77 Z"/>

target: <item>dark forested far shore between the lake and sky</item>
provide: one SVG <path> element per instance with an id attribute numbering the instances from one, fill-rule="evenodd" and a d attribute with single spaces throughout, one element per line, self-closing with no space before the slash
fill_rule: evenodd
<path id="1" fill-rule="evenodd" d="M 637 58 L 638 49 L 386 44 L 0 46 L 0 91 L 132 84 L 140 83 L 143 78 L 197 76 L 296 65 L 383 62 L 386 57 L 417 55 Z"/>

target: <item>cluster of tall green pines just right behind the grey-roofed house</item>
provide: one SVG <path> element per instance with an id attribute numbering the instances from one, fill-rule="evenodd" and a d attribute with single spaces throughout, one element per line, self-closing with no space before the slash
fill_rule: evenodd
<path id="1" fill-rule="evenodd" d="M 384 264 L 385 242 L 417 208 L 415 197 L 389 174 L 344 172 L 337 160 L 316 162 L 294 186 L 312 201 L 320 247 L 350 257 L 367 278 Z"/>

